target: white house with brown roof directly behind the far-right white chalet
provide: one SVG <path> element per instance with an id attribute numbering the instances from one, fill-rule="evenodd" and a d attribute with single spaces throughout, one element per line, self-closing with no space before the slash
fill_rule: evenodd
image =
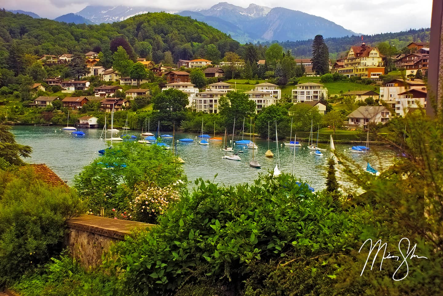
<path id="1" fill-rule="evenodd" d="M 396 109 L 396 101 L 399 94 L 409 89 L 425 89 L 426 84 L 421 79 L 394 79 L 380 87 L 380 104 L 388 104 L 393 110 Z"/>

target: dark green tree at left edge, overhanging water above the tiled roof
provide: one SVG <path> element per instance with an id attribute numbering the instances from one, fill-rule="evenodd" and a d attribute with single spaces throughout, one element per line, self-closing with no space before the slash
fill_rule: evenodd
<path id="1" fill-rule="evenodd" d="M 32 148 L 18 144 L 9 128 L 0 124 L 0 159 L 4 159 L 11 165 L 23 165 L 23 160 L 20 157 L 31 157 Z"/>

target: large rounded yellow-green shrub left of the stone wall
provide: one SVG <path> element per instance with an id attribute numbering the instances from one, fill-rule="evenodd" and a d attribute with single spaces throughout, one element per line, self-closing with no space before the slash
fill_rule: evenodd
<path id="1" fill-rule="evenodd" d="M 0 277 L 15 277 L 58 254 L 65 220 L 84 208 L 74 191 L 43 183 L 33 169 L 0 171 L 0 179 Z"/>

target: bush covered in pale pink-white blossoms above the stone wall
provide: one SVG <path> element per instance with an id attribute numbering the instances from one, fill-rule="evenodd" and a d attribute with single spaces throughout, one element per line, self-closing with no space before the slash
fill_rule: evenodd
<path id="1" fill-rule="evenodd" d="M 135 199 L 129 203 L 134 219 L 145 223 L 155 223 L 159 215 L 163 215 L 170 204 L 180 200 L 175 186 L 183 181 L 176 181 L 167 187 L 141 184 L 136 190 Z"/>

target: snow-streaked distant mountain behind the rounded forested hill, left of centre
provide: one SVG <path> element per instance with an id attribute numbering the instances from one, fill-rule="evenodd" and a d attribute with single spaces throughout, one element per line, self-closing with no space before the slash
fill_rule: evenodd
<path id="1" fill-rule="evenodd" d="M 128 19 L 134 15 L 160 11 L 164 11 L 164 9 L 129 6 L 86 6 L 77 14 L 85 19 L 89 19 L 93 23 L 113 23 Z"/>

